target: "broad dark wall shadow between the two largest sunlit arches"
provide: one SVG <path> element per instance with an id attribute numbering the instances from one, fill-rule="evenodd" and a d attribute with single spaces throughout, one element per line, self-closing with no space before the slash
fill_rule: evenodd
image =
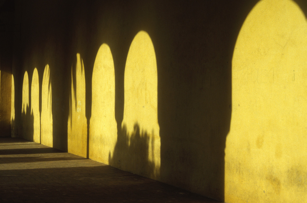
<path id="1" fill-rule="evenodd" d="M 224 201 L 232 53 L 255 3 L 165 2 L 159 29 L 142 24 L 157 58 L 163 182 Z"/>

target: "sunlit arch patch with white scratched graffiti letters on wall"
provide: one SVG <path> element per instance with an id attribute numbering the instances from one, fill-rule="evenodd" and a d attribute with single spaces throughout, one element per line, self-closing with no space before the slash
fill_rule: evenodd
<path id="1" fill-rule="evenodd" d="M 87 156 L 87 120 L 85 117 L 85 75 L 80 54 L 72 67 L 72 88 L 68 115 L 68 152 Z"/>

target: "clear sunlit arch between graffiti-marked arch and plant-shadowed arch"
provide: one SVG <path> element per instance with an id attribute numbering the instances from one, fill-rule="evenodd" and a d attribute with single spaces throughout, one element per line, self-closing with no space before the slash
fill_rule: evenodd
<path id="1" fill-rule="evenodd" d="M 116 141 L 114 63 L 110 47 L 102 44 L 92 77 L 89 158 L 109 164 L 109 153 L 113 156 Z"/>

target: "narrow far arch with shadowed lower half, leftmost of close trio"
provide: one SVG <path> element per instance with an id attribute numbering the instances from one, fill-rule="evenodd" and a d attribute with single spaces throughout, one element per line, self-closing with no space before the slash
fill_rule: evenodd
<path id="1" fill-rule="evenodd" d="M 31 136 L 31 112 L 29 109 L 29 77 L 28 72 L 25 71 L 22 84 L 22 109 L 21 109 L 21 120 L 22 120 L 22 137 L 33 141 Z"/>

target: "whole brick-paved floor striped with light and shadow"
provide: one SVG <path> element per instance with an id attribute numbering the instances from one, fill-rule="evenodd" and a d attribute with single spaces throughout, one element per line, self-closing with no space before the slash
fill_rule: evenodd
<path id="1" fill-rule="evenodd" d="M 0 202 L 217 203 L 20 138 L 0 138 Z"/>

